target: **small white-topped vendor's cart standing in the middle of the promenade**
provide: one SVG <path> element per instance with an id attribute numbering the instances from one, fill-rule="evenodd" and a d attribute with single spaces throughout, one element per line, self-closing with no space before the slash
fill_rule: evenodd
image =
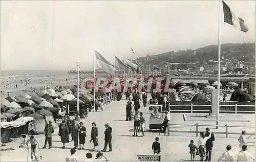
<path id="1" fill-rule="evenodd" d="M 158 114 L 158 108 L 162 108 L 163 105 L 149 105 L 153 108 L 154 113 L 150 116 L 150 131 L 151 129 L 162 130 L 162 117 Z"/>

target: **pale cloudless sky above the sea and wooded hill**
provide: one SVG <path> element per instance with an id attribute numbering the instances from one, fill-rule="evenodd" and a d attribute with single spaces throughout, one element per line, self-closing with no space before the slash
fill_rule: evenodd
<path id="1" fill-rule="evenodd" d="M 224 22 L 221 43 L 255 41 L 255 1 L 225 1 L 247 33 Z M 1 70 L 92 70 L 113 62 L 218 44 L 218 1 L 1 1 Z M 135 54 L 132 54 L 131 48 Z"/>

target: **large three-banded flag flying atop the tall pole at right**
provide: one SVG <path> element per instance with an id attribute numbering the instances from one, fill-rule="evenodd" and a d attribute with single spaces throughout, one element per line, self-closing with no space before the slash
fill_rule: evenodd
<path id="1" fill-rule="evenodd" d="M 222 5 L 224 12 L 224 22 L 246 33 L 248 31 L 248 27 L 245 25 L 244 20 L 238 15 L 234 14 L 224 1 L 222 1 Z"/>

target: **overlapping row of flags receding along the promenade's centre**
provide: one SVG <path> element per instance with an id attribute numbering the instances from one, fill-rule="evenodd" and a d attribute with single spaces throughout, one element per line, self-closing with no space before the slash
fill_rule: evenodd
<path id="1" fill-rule="evenodd" d="M 115 56 L 115 63 L 113 64 L 110 61 L 106 60 L 97 51 L 95 51 L 95 57 L 96 57 L 97 67 L 111 74 L 114 74 L 116 70 L 122 70 L 126 73 L 129 73 L 129 72 L 139 73 L 142 71 L 148 71 L 148 68 L 150 71 L 160 70 L 160 68 L 156 65 L 153 65 L 153 66 L 148 65 L 148 67 L 146 67 L 136 61 L 134 63 L 127 59 L 124 59 L 124 61 L 122 61 L 117 56 Z"/>

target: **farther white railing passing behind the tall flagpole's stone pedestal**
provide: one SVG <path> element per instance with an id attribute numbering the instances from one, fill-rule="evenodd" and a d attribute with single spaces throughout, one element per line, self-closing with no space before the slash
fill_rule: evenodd
<path id="1" fill-rule="evenodd" d="M 190 110 L 172 110 L 171 107 L 172 106 L 190 106 Z M 190 113 L 193 113 L 193 111 L 201 111 L 201 112 L 209 112 L 209 110 L 194 110 L 193 106 L 211 106 L 211 105 L 194 105 L 193 103 L 191 104 L 185 104 L 185 105 L 170 105 L 170 112 L 180 112 L 180 111 L 188 111 Z M 237 110 L 237 107 L 254 107 L 255 105 L 238 105 L 238 104 L 234 104 L 234 105 L 220 105 L 220 107 L 234 107 L 235 110 L 220 110 L 220 112 L 234 112 L 234 113 L 238 113 L 238 112 L 255 112 L 254 111 L 244 111 L 244 110 Z"/>

